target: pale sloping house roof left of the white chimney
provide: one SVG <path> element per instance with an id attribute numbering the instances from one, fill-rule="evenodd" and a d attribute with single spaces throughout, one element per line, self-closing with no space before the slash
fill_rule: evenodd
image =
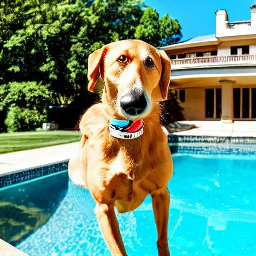
<path id="1" fill-rule="evenodd" d="M 188 47 L 188 46 L 193 47 L 193 46 L 197 46 L 196 44 L 202 44 L 204 42 L 206 45 L 208 45 L 209 43 L 218 44 L 219 40 L 215 34 L 202 35 L 202 36 L 200 35 L 200 36 L 194 37 L 192 39 L 188 39 L 186 41 L 182 41 L 182 42 L 178 42 L 176 44 L 171 44 L 168 46 L 161 47 L 161 49 L 162 50 L 168 50 L 168 49 L 171 50 L 171 49 L 183 48 L 183 47 Z"/>

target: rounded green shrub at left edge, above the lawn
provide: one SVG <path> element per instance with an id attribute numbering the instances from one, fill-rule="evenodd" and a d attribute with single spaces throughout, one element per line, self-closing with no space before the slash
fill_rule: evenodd
<path id="1" fill-rule="evenodd" d="M 47 121 L 51 100 L 48 87 L 31 82 L 10 82 L 0 86 L 0 111 L 6 114 L 7 131 L 34 130 Z"/>

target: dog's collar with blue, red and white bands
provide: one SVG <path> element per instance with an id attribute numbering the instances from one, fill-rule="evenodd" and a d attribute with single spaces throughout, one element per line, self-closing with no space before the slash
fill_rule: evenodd
<path id="1" fill-rule="evenodd" d="M 115 138 L 133 139 L 140 137 L 144 132 L 144 121 L 123 121 L 110 119 L 109 133 Z"/>

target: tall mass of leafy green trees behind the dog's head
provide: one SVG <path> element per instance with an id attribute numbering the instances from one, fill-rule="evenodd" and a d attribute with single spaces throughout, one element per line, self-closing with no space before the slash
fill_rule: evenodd
<path id="1" fill-rule="evenodd" d="M 0 86 L 47 85 L 51 104 L 88 107 L 88 56 L 104 44 L 141 39 L 154 46 L 177 42 L 177 20 L 143 0 L 1 0 Z"/>

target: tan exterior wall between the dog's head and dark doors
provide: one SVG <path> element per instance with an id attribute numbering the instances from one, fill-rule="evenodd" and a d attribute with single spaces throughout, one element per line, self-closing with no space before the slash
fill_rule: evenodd
<path id="1" fill-rule="evenodd" d="M 184 115 L 187 120 L 204 120 L 205 89 L 185 89 L 185 102 L 180 105 L 184 108 Z"/>

